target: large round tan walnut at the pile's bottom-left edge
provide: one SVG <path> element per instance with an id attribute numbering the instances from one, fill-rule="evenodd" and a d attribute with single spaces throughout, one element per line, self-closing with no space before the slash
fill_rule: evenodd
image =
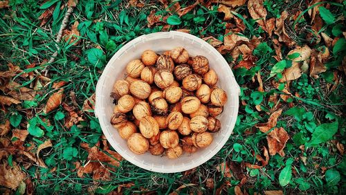
<path id="1" fill-rule="evenodd" d="M 149 142 L 142 134 L 134 133 L 127 140 L 127 146 L 134 154 L 144 154 L 149 149 Z"/>

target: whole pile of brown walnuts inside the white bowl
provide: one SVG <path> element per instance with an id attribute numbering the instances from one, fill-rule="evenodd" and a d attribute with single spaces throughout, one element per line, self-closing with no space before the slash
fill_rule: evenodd
<path id="1" fill-rule="evenodd" d="M 111 124 L 131 151 L 178 158 L 211 144 L 227 95 L 206 57 L 189 57 L 182 47 L 163 55 L 145 50 L 126 72 L 113 87 Z"/>

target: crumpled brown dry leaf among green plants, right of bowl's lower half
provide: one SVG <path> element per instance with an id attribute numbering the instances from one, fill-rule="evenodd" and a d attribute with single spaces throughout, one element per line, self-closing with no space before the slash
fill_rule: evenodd
<path id="1" fill-rule="evenodd" d="M 284 147 L 286 146 L 287 140 L 289 140 L 289 134 L 284 128 L 275 128 L 268 133 L 266 140 L 268 141 L 268 149 L 271 156 L 275 154 L 284 156 Z"/>

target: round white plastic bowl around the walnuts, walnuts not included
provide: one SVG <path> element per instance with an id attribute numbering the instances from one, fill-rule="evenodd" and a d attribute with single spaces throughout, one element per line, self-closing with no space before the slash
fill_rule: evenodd
<path id="1" fill-rule="evenodd" d="M 120 138 L 117 129 L 110 124 L 113 113 L 113 99 L 110 97 L 113 84 L 116 80 L 124 78 L 125 66 L 132 59 L 139 59 L 144 50 L 151 49 L 157 53 L 164 50 L 172 50 L 177 46 L 183 46 L 191 56 L 203 55 L 208 58 L 211 68 L 214 68 L 219 76 L 218 86 L 224 89 L 228 95 L 228 101 L 224 106 L 224 112 L 218 116 L 221 122 L 221 130 L 213 133 L 214 141 L 205 149 L 198 149 L 194 154 L 183 154 L 174 160 L 166 156 L 153 156 L 149 152 L 134 154 L 127 147 L 126 140 Z M 122 46 L 109 60 L 107 66 L 98 80 L 96 86 L 95 115 L 100 121 L 104 135 L 116 149 L 116 151 L 130 163 L 161 173 L 174 173 L 197 167 L 212 158 L 225 145 L 233 131 L 238 114 L 239 85 L 228 66 L 228 63 L 206 41 L 184 32 L 156 32 L 142 35 Z"/>

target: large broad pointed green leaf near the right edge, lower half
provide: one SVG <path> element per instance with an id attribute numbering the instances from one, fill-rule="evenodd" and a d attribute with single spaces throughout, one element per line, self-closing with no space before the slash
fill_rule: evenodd
<path id="1" fill-rule="evenodd" d="M 330 140 L 337 131 L 337 121 L 321 124 L 320 126 L 316 127 L 315 131 L 313 131 L 311 141 L 308 143 L 308 145 L 316 146 L 322 142 L 326 142 L 327 140 Z"/>

